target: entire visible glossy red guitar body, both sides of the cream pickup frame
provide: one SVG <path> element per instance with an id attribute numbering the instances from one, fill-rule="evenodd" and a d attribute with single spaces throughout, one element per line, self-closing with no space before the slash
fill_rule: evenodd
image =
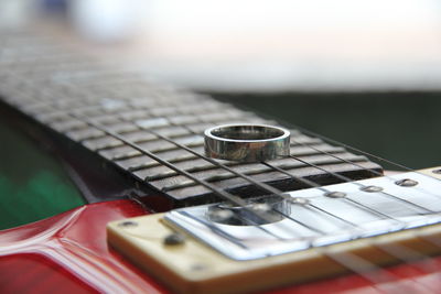
<path id="1" fill-rule="evenodd" d="M 116 200 L 1 231 L 0 292 L 165 293 L 162 285 L 107 246 L 107 222 L 143 214 L 148 211 L 130 200 Z M 441 258 L 424 264 L 385 270 L 394 280 L 381 286 L 347 275 L 272 293 L 377 293 L 400 286 L 406 293 L 441 293 Z"/>

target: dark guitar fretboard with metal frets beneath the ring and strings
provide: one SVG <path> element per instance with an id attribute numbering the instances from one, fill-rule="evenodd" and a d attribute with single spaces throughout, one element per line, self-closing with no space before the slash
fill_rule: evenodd
<path id="1" fill-rule="evenodd" d="M 97 62 L 47 36 L 1 33 L 0 40 L 1 99 L 65 140 L 98 154 L 135 181 L 182 203 L 205 202 L 203 197 L 213 192 L 180 171 L 239 195 L 265 194 L 180 145 L 203 154 L 202 133 L 207 128 L 232 122 L 277 122 L 206 95 L 153 83 L 142 74 Z M 366 157 L 318 138 L 298 130 L 291 130 L 291 135 L 293 157 L 271 161 L 272 167 L 222 163 L 282 190 L 305 187 L 295 181 L 299 177 L 322 185 L 341 182 L 330 172 L 365 178 L 375 175 L 373 171 L 381 171 Z"/>

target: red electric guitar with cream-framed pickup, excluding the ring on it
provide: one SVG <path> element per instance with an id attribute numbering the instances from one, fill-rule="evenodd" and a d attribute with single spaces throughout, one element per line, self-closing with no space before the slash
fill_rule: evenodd
<path id="1" fill-rule="evenodd" d="M 87 203 L 0 231 L 2 293 L 440 292 L 440 168 L 385 175 L 295 128 L 289 156 L 212 160 L 205 129 L 277 122 L 39 32 L 0 40 L 2 118 Z"/>

